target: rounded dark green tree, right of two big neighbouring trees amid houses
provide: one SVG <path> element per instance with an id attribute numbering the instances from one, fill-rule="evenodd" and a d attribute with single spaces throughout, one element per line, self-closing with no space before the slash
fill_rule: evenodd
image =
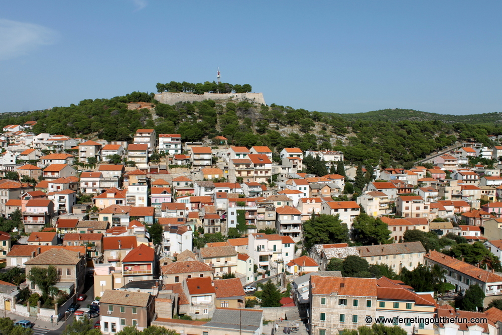
<path id="1" fill-rule="evenodd" d="M 380 218 L 374 218 L 364 213 L 357 215 L 354 219 L 352 237 L 355 242 L 363 246 L 393 242 L 391 240 L 391 231 L 387 229 L 387 224 Z"/>

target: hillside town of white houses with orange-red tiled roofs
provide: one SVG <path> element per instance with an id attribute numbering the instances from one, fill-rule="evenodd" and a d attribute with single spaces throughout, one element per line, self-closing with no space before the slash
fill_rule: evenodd
<path id="1" fill-rule="evenodd" d="M 87 315 L 103 334 L 333 335 L 384 318 L 408 334 L 502 331 L 502 146 L 380 168 L 340 151 L 35 124 L 0 135 L 2 227 L 18 222 L 0 232 L 0 274 L 16 273 L 0 280 L 0 311 Z"/>

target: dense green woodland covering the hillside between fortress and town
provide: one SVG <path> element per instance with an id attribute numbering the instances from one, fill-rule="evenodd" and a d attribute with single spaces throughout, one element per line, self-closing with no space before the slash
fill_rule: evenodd
<path id="1" fill-rule="evenodd" d="M 389 121 L 394 115 L 409 110 L 386 110 L 382 120 L 366 120 L 357 115 L 339 115 L 294 109 L 272 104 L 257 106 L 246 101 L 216 103 L 213 100 L 167 105 L 153 99 L 153 93 L 133 92 L 111 99 L 86 99 L 77 105 L 48 110 L 4 114 L 3 127 L 37 121 L 36 134 L 62 134 L 72 137 L 130 141 L 140 128 L 153 128 L 157 134 L 181 134 L 183 141 L 200 141 L 222 135 L 229 145 L 264 145 L 275 149 L 299 147 L 302 150 L 343 151 L 347 163 L 381 164 L 382 167 L 403 166 L 435 151 L 455 145 L 457 141 L 475 141 L 492 145 L 487 135 L 502 134 L 502 126 L 480 123 L 428 121 Z M 129 110 L 126 102 L 151 102 L 153 109 Z M 394 113 L 394 114 L 393 114 Z M 413 111 L 415 113 L 415 111 Z M 494 115 L 498 115 L 494 113 Z M 457 118 L 456 116 L 443 116 Z M 465 117 L 465 116 L 464 116 Z M 425 118 L 425 117 L 424 117 Z M 409 165 L 408 164 L 408 165 Z"/>

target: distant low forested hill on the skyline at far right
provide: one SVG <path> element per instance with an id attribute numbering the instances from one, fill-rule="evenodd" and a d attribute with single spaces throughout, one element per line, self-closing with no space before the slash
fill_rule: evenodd
<path id="1" fill-rule="evenodd" d="M 469 115 L 449 115 L 428 113 L 426 111 L 414 109 L 388 108 L 367 111 L 366 113 L 336 114 L 345 120 L 366 120 L 366 121 L 431 121 L 437 120 L 444 123 L 469 123 L 469 124 L 495 124 L 502 122 L 502 113 L 483 113 Z"/>

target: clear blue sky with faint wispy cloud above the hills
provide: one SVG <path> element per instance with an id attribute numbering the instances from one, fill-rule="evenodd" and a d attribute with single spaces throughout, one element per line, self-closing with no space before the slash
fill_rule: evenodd
<path id="1" fill-rule="evenodd" d="M 334 113 L 502 111 L 502 2 L 4 1 L 0 112 L 248 83 Z"/>

